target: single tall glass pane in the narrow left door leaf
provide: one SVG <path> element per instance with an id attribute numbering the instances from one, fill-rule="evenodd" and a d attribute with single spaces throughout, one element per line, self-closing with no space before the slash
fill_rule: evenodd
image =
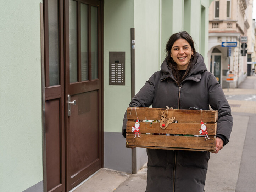
<path id="1" fill-rule="evenodd" d="M 59 85 L 59 8 L 58 0 L 48 1 L 49 83 Z"/>

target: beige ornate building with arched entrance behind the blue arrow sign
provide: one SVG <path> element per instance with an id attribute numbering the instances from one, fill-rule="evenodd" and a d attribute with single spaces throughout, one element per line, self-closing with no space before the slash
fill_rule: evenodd
<path id="1" fill-rule="evenodd" d="M 228 71 L 234 75 L 230 87 L 237 87 L 247 76 L 247 56 L 254 54 L 252 24 L 252 0 L 214 0 L 209 7 L 209 71 L 223 88 L 228 86 Z M 247 38 L 244 55 L 241 54 L 243 38 Z"/>

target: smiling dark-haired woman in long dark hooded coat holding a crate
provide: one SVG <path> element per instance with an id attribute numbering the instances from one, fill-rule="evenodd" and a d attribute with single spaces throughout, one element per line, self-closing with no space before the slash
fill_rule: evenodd
<path id="1" fill-rule="evenodd" d="M 229 142 L 231 109 L 204 58 L 195 51 L 191 36 L 173 34 L 166 44 L 167 57 L 134 96 L 129 107 L 218 110 L 216 152 Z M 123 136 L 126 137 L 126 114 Z M 147 149 L 147 192 L 203 192 L 209 152 Z"/>

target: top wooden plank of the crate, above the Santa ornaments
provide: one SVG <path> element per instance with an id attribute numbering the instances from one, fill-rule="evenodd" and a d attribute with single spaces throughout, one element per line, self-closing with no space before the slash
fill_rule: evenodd
<path id="1" fill-rule="evenodd" d="M 127 108 L 127 119 L 154 119 L 161 120 L 162 112 L 165 112 L 168 118 L 175 117 L 179 123 L 199 123 L 201 118 L 205 123 L 215 123 L 218 118 L 218 111 L 214 110 L 182 110 L 182 109 L 160 109 L 160 108 L 147 108 L 147 107 L 129 107 Z M 137 114 L 137 115 L 136 115 Z"/>

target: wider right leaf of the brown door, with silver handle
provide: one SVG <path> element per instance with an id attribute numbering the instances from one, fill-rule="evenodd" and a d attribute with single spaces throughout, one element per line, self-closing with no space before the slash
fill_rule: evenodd
<path id="1" fill-rule="evenodd" d="M 101 1 L 66 1 L 68 190 L 101 168 Z M 68 8 L 67 8 L 68 7 Z"/>

